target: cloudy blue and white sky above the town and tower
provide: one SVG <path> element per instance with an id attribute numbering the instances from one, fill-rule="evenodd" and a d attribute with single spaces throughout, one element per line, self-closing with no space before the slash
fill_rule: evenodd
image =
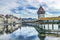
<path id="1" fill-rule="evenodd" d="M 45 9 L 46 17 L 60 16 L 60 0 L 0 0 L 0 14 L 37 18 L 40 5 Z"/>

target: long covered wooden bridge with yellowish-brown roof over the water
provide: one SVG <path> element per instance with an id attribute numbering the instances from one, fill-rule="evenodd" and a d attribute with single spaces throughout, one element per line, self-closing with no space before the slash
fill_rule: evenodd
<path id="1" fill-rule="evenodd" d="M 37 21 L 26 21 L 22 23 L 35 23 L 35 28 L 40 33 L 46 33 L 46 34 L 60 34 L 60 17 L 46 17 L 46 18 L 40 18 Z M 51 27 L 49 26 L 51 24 Z M 54 29 L 54 25 L 57 25 L 57 30 Z M 47 26 L 45 26 L 47 25 Z M 47 27 L 47 29 L 45 29 Z M 51 29 L 50 29 L 51 28 Z M 42 30 L 43 29 L 43 30 Z"/>

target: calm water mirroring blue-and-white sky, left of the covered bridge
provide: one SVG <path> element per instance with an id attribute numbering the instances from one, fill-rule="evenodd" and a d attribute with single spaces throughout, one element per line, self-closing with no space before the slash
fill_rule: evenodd
<path id="1" fill-rule="evenodd" d="M 40 40 L 38 32 L 33 27 L 22 27 L 11 34 L 3 34 L 0 40 Z"/>

